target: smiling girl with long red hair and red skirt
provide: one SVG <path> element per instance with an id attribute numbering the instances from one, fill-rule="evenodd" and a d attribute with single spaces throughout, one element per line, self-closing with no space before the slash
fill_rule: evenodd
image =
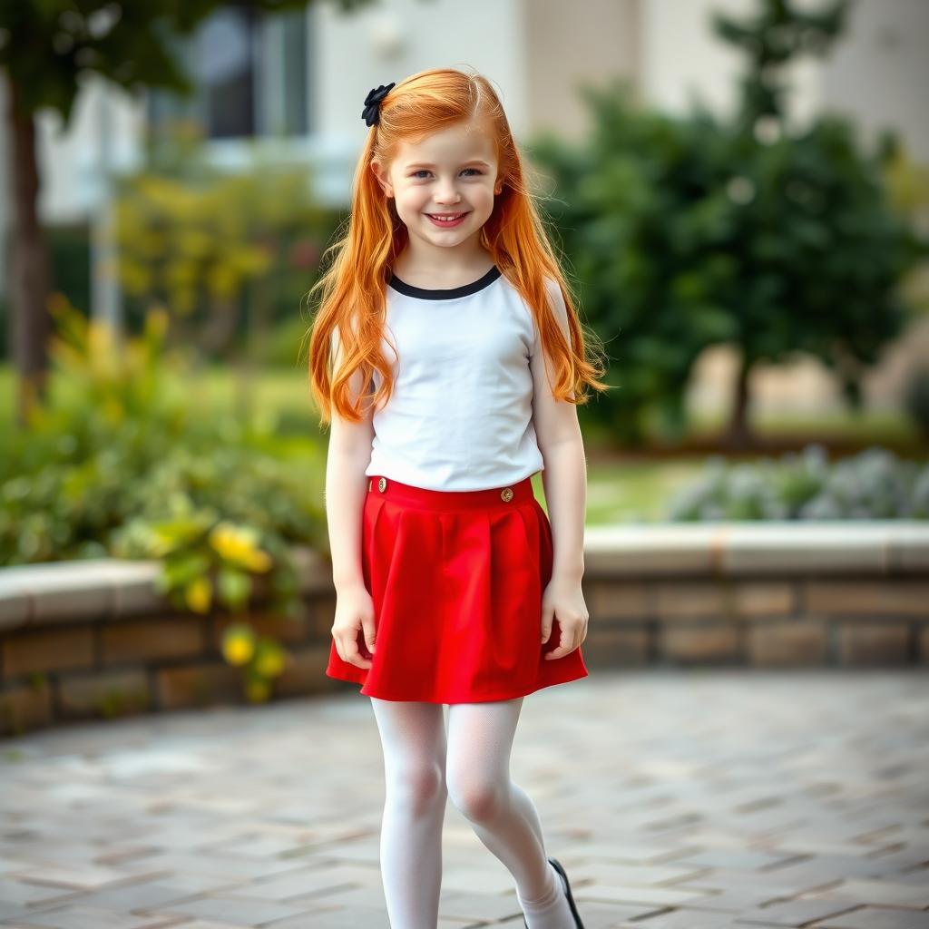
<path id="1" fill-rule="evenodd" d="M 374 88 L 361 115 L 347 234 L 310 291 L 309 366 L 332 424 L 325 673 L 372 702 L 387 915 L 435 929 L 451 796 L 513 874 L 528 929 L 580 929 L 509 757 L 524 697 L 587 674 L 575 404 L 585 383 L 605 389 L 602 369 L 490 83 L 420 72 Z"/>

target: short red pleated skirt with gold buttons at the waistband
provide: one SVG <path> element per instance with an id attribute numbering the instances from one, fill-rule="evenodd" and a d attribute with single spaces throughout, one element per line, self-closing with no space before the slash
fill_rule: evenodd
<path id="1" fill-rule="evenodd" d="M 512 700 L 586 677 L 581 648 L 547 661 L 542 595 L 552 576 L 552 528 L 531 478 L 506 488 L 433 491 L 373 477 L 362 509 L 361 568 L 374 606 L 370 668 L 342 661 L 326 674 L 380 700 Z"/>

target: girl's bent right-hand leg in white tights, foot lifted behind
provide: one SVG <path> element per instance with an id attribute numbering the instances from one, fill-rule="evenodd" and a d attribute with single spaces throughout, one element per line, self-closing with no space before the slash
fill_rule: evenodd
<path id="1" fill-rule="evenodd" d="M 545 853 L 538 811 L 510 779 L 522 702 L 520 697 L 449 706 L 448 792 L 480 841 L 516 879 L 530 929 L 573 929 L 561 878 Z"/>

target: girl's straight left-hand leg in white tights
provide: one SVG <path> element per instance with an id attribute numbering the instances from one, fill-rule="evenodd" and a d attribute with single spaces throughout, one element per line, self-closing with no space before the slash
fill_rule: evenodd
<path id="1" fill-rule="evenodd" d="M 384 749 L 381 878 L 392 929 L 436 929 L 445 818 L 441 703 L 371 698 Z"/>

